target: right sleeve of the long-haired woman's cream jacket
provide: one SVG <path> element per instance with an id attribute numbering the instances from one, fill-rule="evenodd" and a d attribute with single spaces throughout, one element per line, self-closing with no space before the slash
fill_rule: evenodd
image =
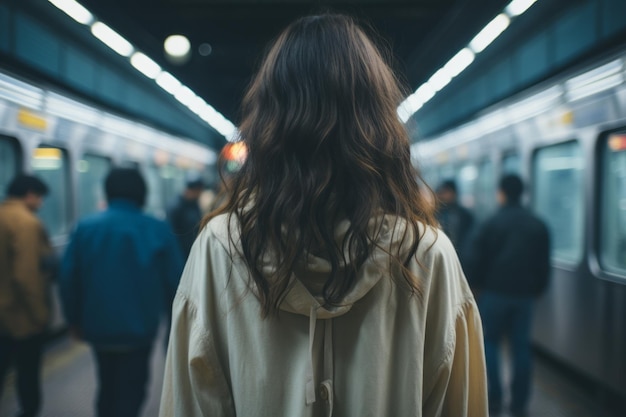
<path id="1" fill-rule="evenodd" d="M 425 283 L 423 417 L 487 417 L 482 323 L 454 248 L 439 236 Z"/>

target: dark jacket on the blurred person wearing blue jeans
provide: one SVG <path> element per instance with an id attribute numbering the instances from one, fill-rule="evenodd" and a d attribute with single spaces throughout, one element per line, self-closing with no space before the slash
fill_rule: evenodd
<path id="1" fill-rule="evenodd" d="M 466 273 L 478 291 L 540 295 L 550 273 L 548 228 L 518 204 L 502 207 L 473 240 Z"/>

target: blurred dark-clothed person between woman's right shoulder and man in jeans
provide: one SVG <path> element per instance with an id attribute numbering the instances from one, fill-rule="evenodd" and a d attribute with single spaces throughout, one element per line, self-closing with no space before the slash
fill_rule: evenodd
<path id="1" fill-rule="evenodd" d="M 437 200 L 439 201 L 437 220 L 452 241 L 461 262 L 464 263 L 474 216 L 459 203 L 454 180 L 445 180 L 437 187 Z"/>

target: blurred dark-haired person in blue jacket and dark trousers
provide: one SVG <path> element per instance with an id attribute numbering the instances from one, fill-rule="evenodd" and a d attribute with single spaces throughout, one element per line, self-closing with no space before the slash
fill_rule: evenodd
<path id="1" fill-rule="evenodd" d="M 141 212 L 146 192 L 136 169 L 113 169 L 107 210 L 79 222 L 61 265 L 66 320 L 97 362 L 98 417 L 139 415 L 151 348 L 182 271 L 169 225 Z"/>

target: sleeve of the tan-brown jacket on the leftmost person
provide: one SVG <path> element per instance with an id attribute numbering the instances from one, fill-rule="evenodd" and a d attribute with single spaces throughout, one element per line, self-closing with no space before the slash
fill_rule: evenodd
<path id="1" fill-rule="evenodd" d="M 36 326 L 45 327 L 50 317 L 48 279 L 42 261 L 51 251 L 40 223 L 24 222 L 15 236 L 15 284 L 20 300 L 26 305 Z M 43 280 L 43 281 L 42 281 Z"/>

